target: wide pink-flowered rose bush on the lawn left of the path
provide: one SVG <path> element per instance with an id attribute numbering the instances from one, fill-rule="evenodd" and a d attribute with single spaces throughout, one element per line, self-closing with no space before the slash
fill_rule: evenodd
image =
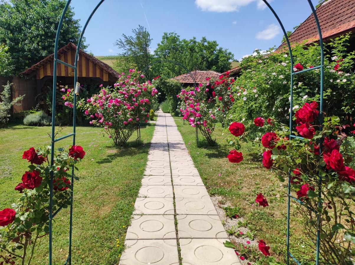
<path id="1" fill-rule="evenodd" d="M 130 69 L 122 73 L 113 88 L 102 88 L 99 94 L 82 102 L 90 124 L 101 127 L 114 141 L 116 147 L 123 146 L 135 130 L 138 122 L 147 122 L 146 109 L 158 96 L 158 90 L 144 75 Z"/>

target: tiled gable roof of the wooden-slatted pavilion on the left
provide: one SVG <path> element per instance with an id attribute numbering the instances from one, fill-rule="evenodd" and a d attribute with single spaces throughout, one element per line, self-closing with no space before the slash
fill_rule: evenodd
<path id="1" fill-rule="evenodd" d="M 61 54 L 65 53 L 66 51 L 73 49 L 76 50 L 76 45 L 73 43 L 68 43 L 67 45 L 65 45 L 64 47 L 60 48 L 58 50 L 58 56 L 60 56 Z M 97 58 L 95 58 L 92 55 L 89 55 L 88 53 L 84 52 L 83 50 L 79 49 L 79 54 L 88 58 L 88 60 L 92 61 L 94 64 L 96 64 L 98 67 L 104 69 L 105 71 L 107 71 L 109 74 L 111 74 L 113 77 L 115 78 L 119 78 L 119 73 L 117 73 L 114 69 L 112 69 L 108 64 L 104 63 L 103 61 L 98 60 Z M 79 57 L 80 58 L 80 57 Z M 39 68 L 41 68 L 42 66 L 48 64 L 49 62 L 54 60 L 54 53 L 45 57 L 42 61 L 39 61 L 38 63 L 34 64 L 33 66 L 31 66 L 30 68 L 26 69 L 25 71 L 23 71 L 22 73 L 20 73 L 21 75 L 28 77 L 30 76 L 33 72 L 37 71 Z"/>

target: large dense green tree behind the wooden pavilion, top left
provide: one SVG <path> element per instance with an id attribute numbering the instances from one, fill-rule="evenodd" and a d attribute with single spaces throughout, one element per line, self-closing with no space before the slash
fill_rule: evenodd
<path id="1" fill-rule="evenodd" d="M 0 43 L 9 47 L 18 74 L 53 53 L 56 30 L 66 0 L 10 0 L 0 3 Z M 71 7 L 63 22 L 59 47 L 76 43 L 79 19 Z M 81 46 L 86 49 L 86 45 Z"/>

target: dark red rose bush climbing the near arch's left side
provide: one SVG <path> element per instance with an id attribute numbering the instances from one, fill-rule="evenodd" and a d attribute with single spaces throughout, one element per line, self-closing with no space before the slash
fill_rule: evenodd
<path id="1" fill-rule="evenodd" d="M 72 146 L 69 151 L 59 148 L 53 166 L 49 156 L 50 146 L 31 147 L 23 153 L 22 158 L 31 164 L 15 187 L 22 195 L 11 208 L 0 211 L 0 264 L 31 264 L 37 240 L 48 235 L 51 171 L 53 212 L 70 205 L 72 168 L 77 169 L 75 165 L 85 152 L 81 146 Z M 78 177 L 73 175 L 73 179 Z"/>

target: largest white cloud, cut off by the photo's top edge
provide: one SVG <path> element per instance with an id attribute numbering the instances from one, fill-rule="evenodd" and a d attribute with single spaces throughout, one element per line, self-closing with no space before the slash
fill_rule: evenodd
<path id="1" fill-rule="evenodd" d="M 273 0 L 267 0 L 272 2 Z M 234 12 L 239 11 L 240 7 L 257 2 L 257 8 L 264 10 L 266 5 L 262 0 L 195 0 L 197 7 L 202 11 L 211 12 Z"/>

